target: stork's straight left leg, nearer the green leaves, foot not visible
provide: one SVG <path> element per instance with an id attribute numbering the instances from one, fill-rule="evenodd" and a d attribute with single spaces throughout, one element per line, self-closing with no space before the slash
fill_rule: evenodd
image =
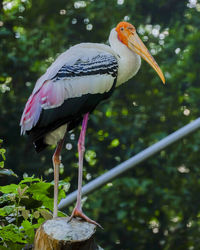
<path id="1" fill-rule="evenodd" d="M 55 153 L 53 154 L 53 166 L 54 166 L 53 218 L 58 217 L 58 181 L 59 181 L 60 153 L 63 147 L 63 142 L 64 138 L 58 142 Z"/>

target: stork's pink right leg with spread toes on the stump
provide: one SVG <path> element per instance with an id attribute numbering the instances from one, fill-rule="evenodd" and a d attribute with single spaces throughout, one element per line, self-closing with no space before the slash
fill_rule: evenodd
<path id="1" fill-rule="evenodd" d="M 81 207 L 81 195 L 82 195 L 82 178 L 83 178 L 83 157 L 85 152 L 85 134 L 87 129 L 89 113 L 85 114 L 83 117 L 83 123 L 81 128 L 80 137 L 78 140 L 78 154 L 79 154 L 79 168 L 78 168 L 78 193 L 77 193 L 77 201 L 76 206 L 72 212 L 72 215 L 69 218 L 69 221 L 73 217 L 81 217 L 89 223 L 95 224 L 102 228 L 96 221 L 88 218 L 83 212 Z"/>

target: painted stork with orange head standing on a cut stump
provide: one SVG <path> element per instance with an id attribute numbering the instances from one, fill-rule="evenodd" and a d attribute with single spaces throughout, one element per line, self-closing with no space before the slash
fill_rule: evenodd
<path id="1" fill-rule="evenodd" d="M 53 218 L 58 215 L 58 181 L 60 154 L 68 131 L 81 123 L 78 139 L 78 192 L 70 216 L 100 226 L 83 213 L 81 205 L 82 172 L 85 136 L 89 115 L 116 88 L 138 72 L 143 58 L 165 83 L 162 70 L 152 57 L 135 26 L 119 22 L 109 35 L 109 45 L 80 43 L 70 47 L 52 63 L 37 80 L 21 117 L 21 134 L 28 134 L 35 150 L 56 145 L 53 154 L 54 206 Z M 100 226 L 101 227 L 101 226 Z"/>

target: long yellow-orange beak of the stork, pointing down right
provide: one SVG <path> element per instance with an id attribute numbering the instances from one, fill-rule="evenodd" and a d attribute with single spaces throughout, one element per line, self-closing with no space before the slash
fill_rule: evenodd
<path id="1" fill-rule="evenodd" d="M 153 56 L 149 53 L 148 49 L 146 48 L 146 46 L 144 45 L 142 40 L 139 38 L 137 33 L 129 35 L 128 47 L 132 51 L 134 51 L 135 53 L 140 55 L 145 61 L 147 61 L 151 65 L 151 67 L 157 72 L 157 74 L 159 75 L 162 82 L 165 83 L 165 77 L 162 73 L 162 70 L 160 69 L 160 67 L 156 63 Z"/>

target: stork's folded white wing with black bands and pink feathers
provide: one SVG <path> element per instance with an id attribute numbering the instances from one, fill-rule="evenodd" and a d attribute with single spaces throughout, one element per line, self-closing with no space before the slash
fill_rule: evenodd
<path id="1" fill-rule="evenodd" d="M 21 118 L 21 133 L 37 124 L 42 109 L 59 107 L 69 98 L 108 92 L 117 70 L 116 57 L 99 48 L 74 46 L 61 54 L 37 81 Z"/>

